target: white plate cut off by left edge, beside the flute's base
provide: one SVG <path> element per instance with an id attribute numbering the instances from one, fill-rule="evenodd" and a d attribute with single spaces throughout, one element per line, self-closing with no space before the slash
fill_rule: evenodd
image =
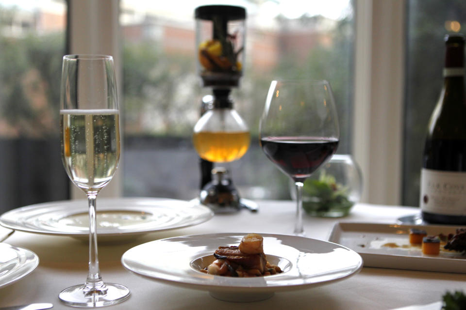
<path id="1" fill-rule="evenodd" d="M 0 288 L 30 274 L 39 258 L 30 250 L 0 243 Z"/>

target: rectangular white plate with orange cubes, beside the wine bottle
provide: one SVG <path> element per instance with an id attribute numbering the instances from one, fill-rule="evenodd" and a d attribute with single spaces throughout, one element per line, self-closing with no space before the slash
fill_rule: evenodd
<path id="1" fill-rule="evenodd" d="M 365 267 L 466 273 L 466 255 L 443 250 L 443 246 L 439 255 L 423 254 L 420 246 L 410 245 L 410 228 L 428 235 L 456 232 L 454 226 L 340 222 L 333 226 L 329 241 L 361 254 Z"/>

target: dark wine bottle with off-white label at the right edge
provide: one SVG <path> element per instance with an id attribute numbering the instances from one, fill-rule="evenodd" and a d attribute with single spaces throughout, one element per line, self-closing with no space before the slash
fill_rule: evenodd
<path id="1" fill-rule="evenodd" d="M 428 223 L 466 224 L 465 37 L 445 37 L 444 84 L 427 130 L 420 207 Z"/>

